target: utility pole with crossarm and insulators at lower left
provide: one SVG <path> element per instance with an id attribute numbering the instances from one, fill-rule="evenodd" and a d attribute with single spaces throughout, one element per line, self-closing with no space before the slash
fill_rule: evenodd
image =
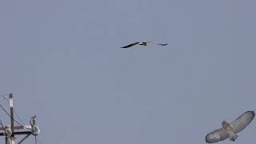
<path id="1" fill-rule="evenodd" d="M 0 136 L 6 137 L 6 144 L 15 144 L 15 135 L 26 135 L 18 144 L 21 144 L 26 138 L 30 136 L 30 134 L 33 134 L 34 136 L 37 136 L 39 134 L 39 128 L 35 124 L 35 118 L 34 115 L 32 118 L 30 118 L 30 125 L 28 126 L 14 126 L 14 99 L 13 94 L 9 94 L 9 104 L 10 104 L 10 126 L 3 126 L 2 122 L 0 127 Z M 15 121 L 17 122 L 17 121 Z M 1 132 L 3 131 L 3 132 Z"/>

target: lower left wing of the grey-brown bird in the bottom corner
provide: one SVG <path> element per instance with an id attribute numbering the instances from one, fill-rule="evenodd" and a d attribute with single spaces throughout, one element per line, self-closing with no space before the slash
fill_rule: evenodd
<path id="1" fill-rule="evenodd" d="M 219 142 L 229 137 L 230 137 L 230 134 L 228 134 L 224 129 L 218 129 L 206 135 L 206 142 L 207 143 Z"/>

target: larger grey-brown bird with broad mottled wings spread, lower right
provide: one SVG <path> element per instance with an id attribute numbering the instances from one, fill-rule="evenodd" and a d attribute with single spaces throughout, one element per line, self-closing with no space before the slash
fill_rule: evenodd
<path id="1" fill-rule="evenodd" d="M 206 135 L 207 143 L 214 143 L 223 141 L 226 138 L 230 138 L 230 141 L 235 141 L 238 138 L 237 133 L 246 128 L 247 125 L 253 120 L 255 116 L 254 111 L 246 111 L 240 115 L 234 122 L 222 121 L 222 128 L 214 130 L 213 132 Z"/>

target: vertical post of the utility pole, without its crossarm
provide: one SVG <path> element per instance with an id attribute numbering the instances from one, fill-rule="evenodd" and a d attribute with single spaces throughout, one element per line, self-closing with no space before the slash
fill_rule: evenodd
<path id="1" fill-rule="evenodd" d="M 10 93 L 10 130 L 13 134 L 10 136 L 10 144 L 14 144 L 14 99 L 13 94 Z"/>

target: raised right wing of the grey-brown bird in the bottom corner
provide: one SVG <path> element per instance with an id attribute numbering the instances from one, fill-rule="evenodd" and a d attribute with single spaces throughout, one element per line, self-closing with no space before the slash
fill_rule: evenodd
<path id="1" fill-rule="evenodd" d="M 246 111 L 244 114 L 240 115 L 234 122 L 231 122 L 231 126 L 233 126 L 234 132 L 238 133 L 254 119 L 255 113 L 254 111 Z"/>

